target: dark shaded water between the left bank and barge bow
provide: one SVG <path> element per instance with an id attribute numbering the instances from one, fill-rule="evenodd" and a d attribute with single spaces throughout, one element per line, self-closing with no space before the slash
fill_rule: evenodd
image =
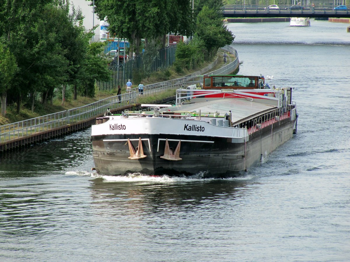
<path id="1" fill-rule="evenodd" d="M 0 154 L 1 177 L 41 176 L 92 166 L 90 129 Z M 89 170 L 89 169 L 87 169 Z"/>

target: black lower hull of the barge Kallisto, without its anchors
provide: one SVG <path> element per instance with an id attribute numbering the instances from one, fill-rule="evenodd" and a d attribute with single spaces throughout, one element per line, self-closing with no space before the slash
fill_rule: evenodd
<path id="1" fill-rule="evenodd" d="M 227 137 L 184 134 L 106 134 L 92 136 L 95 169 L 103 175 L 193 175 L 233 177 L 257 165 L 262 157 L 293 136 L 290 118 L 252 132 L 244 141 Z M 135 150 L 139 143 L 146 157 L 130 159 L 128 140 Z M 168 141 L 168 142 L 167 142 Z M 174 152 L 180 142 L 179 160 L 162 158 L 166 143 Z"/>

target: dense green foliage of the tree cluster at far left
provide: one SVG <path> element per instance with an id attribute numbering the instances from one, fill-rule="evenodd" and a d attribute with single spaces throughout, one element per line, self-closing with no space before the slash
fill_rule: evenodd
<path id="1" fill-rule="evenodd" d="M 12 81 L 0 83 L 7 103 L 17 103 L 19 111 L 24 101 L 33 109 L 37 97 L 45 103 L 57 87 L 76 90 L 109 78 L 102 47 L 90 44 L 92 32 L 86 32 L 83 18 L 69 0 L 0 1 L 0 44 L 17 65 Z M 94 92 L 89 86 L 85 94 Z"/>

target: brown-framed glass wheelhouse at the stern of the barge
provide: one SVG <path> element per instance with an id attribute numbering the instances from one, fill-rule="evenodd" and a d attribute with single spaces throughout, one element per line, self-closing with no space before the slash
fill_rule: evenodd
<path id="1" fill-rule="evenodd" d="M 203 89 L 264 89 L 263 76 L 203 75 Z"/>

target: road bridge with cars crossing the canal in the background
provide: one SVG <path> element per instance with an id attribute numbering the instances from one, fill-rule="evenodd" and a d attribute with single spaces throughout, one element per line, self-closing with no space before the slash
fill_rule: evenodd
<path id="1" fill-rule="evenodd" d="M 333 7 L 310 7 L 303 9 L 289 9 L 279 6 L 279 9 L 269 9 L 266 6 L 226 5 L 223 7 L 224 17 L 334 17 L 350 18 L 350 8 L 334 10 Z"/>

